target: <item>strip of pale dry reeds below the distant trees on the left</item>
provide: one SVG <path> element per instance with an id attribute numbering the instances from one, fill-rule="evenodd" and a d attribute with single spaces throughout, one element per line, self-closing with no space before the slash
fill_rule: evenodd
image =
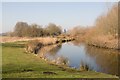
<path id="1" fill-rule="evenodd" d="M 56 43 L 62 43 L 67 41 L 74 40 L 73 37 L 69 36 L 56 36 L 56 37 L 0 37 L 1 43 L 6 42 L 16 42 L 16 41 L 30 41 L 30 40 L 38 40 L 43 45 L 49 45 L 49 44 L 56 44 Z"/>

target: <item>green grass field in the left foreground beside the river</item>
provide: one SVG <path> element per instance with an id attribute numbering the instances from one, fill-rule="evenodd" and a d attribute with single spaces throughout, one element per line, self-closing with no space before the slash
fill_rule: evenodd
<path id="1" fill-rule="evenodd" d="M 34 54 L 24 52 L 24 43 L 2 44 L 3 78 L 117 78 L 113 75 L 94 71 L 77 71 L 51 65 Z M 56 74 L 43 74 L 49 71 Z"/>

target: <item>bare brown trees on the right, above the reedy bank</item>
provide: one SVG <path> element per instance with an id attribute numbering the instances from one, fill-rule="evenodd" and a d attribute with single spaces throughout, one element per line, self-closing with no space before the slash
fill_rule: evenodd
<path id="1" fill-rule="evenodd" d="M 111 35 L 113 38 L 118 37 L 118 4 L 115 4 L 110 8 L 107 13 L 103 13 L 95 21 L 93 26 L 83 27 L 76 26 L 69 30 L 69 34 L 72 35 L 84 35 L 87 37 L 96 37 L 98 35 Z"/>

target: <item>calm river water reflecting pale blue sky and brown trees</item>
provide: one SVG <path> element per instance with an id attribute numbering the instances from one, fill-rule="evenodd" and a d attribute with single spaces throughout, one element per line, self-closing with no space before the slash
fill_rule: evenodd
<path id="1" fill-rule="evenodd" d="M 87 65 L 89 70 L 113 75 L 119 74 L 120 62 L 117 50 L 87 46 L 74 41 L 42 47 L 38 55 L 44 55 L 49 60 L 62 56 L 69 61 L 68 66 L 76 69 Z"/>

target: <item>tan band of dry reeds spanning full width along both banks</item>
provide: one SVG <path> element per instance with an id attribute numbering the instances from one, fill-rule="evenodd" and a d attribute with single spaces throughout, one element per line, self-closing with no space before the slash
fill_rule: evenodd
<path id="1" fill-rule="evenodd" d="M 103 36 L 99 37 L 85 37 L 85 36 L 78 36 L 78 37 L 0 37 L 0 43 L 6 42 L 16 42 L 16 41 L 31 41 L 31 40 L 39 40 L 39 42 L 43 43 L 44 45 L 52 45 L 56 43 L 68 42 L 72 40 L 80 40 L 89 46 L 94 46 L 98 48 L 105 48 L 105 49 L 114 49 L 120 50 L 120 41 L 119 39 L 111 39 L 111 36 Z"/>

